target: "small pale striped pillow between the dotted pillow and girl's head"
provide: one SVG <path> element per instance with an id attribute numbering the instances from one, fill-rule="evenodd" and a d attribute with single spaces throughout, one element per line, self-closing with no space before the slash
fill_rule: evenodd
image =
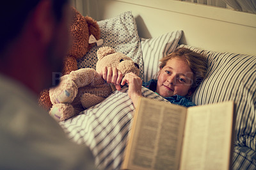
<path id="1" fill-rule="evenodd" d="M 155 78 L 159 71 L 159 59 L 167 56 L 176 49 L 182 31 L 173 31 L 156 38 L 141 38 L 141 50 L 144 63 L 143 81 L 148 82 Z"/>

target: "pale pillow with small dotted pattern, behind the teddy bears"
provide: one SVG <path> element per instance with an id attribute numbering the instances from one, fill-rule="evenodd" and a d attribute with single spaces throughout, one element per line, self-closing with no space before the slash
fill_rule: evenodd
<path id="1" fill-rule="evenodd" d="M 131 12 L 124 12 L 107 20 L 97 22 L 100 27 L 100 38 L 103 45 L 113 47 L 116 52 L 122 52 L 132 58 L 140 66 L 140 75 L 143 75 L 143 59 L 138 36 L 136 21 Z M 78 68 L 96 68 L 97 50 L 94 45 L 83 59 L 77 60 Z"/>

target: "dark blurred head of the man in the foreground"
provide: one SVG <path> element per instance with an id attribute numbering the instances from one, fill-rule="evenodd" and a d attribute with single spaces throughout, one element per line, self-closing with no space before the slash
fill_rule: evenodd
<path id="1" fill-rule="evenodd" d="M 69 44 L 68 0 L 13 0 L 2 6 L 1 73 L 36 93 L 52 86 Z"/>

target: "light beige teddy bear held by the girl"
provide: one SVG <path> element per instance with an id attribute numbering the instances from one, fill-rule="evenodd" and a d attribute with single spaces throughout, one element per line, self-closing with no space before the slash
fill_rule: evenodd
<path id="1" fill-rule="evenodd" d="M 123 75 L 133 72 L 139 75 L 139 66 L 131 58 L 111 47 L 97 51 L 96 70 L 81 68 L 61 77 L 60 84 L 50 89 L 52 108 L 50 114 L 58 121 L 67 120 L 79 112 L 99 104 L 112 93 L 108 84 L 98 73 L 104 66 L 116 67 Z"/>

